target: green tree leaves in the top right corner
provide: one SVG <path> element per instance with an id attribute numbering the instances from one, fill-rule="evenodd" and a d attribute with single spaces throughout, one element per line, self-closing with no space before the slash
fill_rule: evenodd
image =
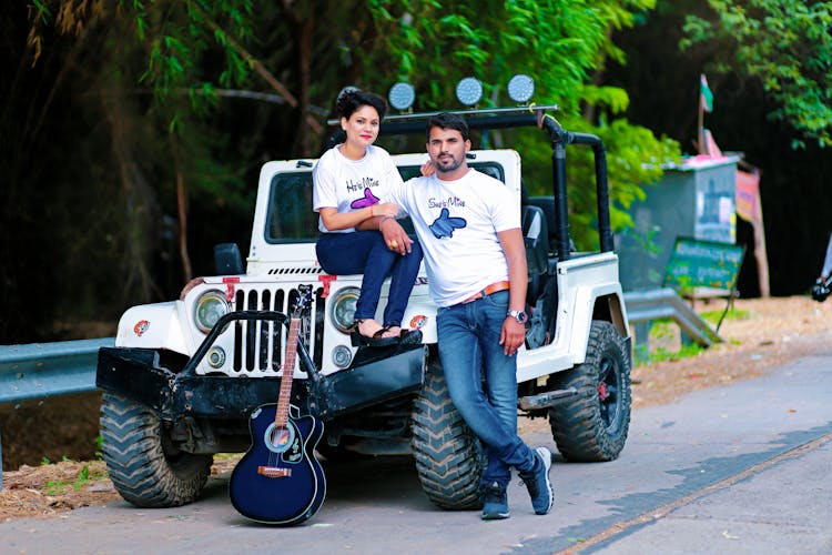
<path id="1" fill-rule="evenodd" d="M 832 147 L 832 3 L 708 0 L 711 18 L 688 16 L 680 48 L 716 43 L 714 69 L 758 78 L 782 120 Z M 717 92 L 719 100 L 719 93 Z M 800 148 L 803 141 L 794 141 Z"/>

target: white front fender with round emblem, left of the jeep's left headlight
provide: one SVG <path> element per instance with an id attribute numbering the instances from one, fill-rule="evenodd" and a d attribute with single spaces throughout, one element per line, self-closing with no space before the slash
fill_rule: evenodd
<path id="1" fill-rule="evenodd" d="M 142 304 L 129 309 L 119 321 L 115 345 L 165 349 L 190 355 L 179 316 L 181 301 Z"/>

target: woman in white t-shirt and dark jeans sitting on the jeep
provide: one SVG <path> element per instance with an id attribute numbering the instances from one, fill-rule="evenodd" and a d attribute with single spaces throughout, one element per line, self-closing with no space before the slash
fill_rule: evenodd
<path id="1" fill-rule="evenodd" d="M 376 94 L 347 90 L 338 95 L 337 110 L 346 139 L 326 151 L 312 170 L 313 210 L 319 215 L 318 262 L 331 274 L 364 274 L 353 345 L 418 343 L 422 332 L 400 325 L 422 248 L 396 222 L 398 206 L 383 202 L 402 176 L 387 151 L 373 144 L 387 104 Z M 388 275 L 389 296 L 379 324 L 375 313 Z"/>

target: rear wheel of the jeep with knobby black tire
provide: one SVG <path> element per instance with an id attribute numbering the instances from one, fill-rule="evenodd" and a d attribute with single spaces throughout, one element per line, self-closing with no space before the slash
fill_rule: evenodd
<path id="1" fill-rule="evenodd" d="M 584 364 L 549 376 L 549 387 L 575 387 L 578 395 L 549 410 L 558 451 L 571 462 L 618 457 L 630 427 L 630 369 L 627 342 L 609 322 L 592 321 Z"/>

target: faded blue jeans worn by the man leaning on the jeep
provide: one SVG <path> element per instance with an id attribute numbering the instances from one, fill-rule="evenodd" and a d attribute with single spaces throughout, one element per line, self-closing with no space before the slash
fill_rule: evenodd
<path id="1" fill-rule="evenodd" d="M 503 486 L 510 467 L 530 472 L 535 452 L 517 435 L 517 355 L 499 344 L 508 291 L 437 312 L 439 359 L 454 405 L 486 445 L 483 483 Z M 485 377 L 485 383 L 483 382 Z"/>

